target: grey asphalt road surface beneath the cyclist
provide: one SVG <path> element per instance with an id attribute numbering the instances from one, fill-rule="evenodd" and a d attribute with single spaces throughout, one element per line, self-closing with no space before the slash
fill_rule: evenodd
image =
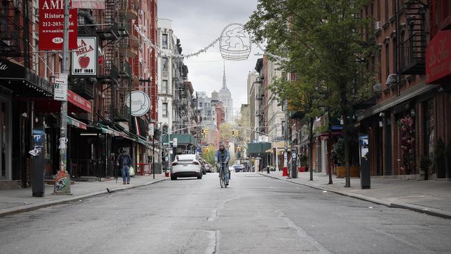
<path id="1" fill-rule="evenodd" d="M 451 220 L 208 173 L 2 217 L 0 253 L 451 253 Z"/>

